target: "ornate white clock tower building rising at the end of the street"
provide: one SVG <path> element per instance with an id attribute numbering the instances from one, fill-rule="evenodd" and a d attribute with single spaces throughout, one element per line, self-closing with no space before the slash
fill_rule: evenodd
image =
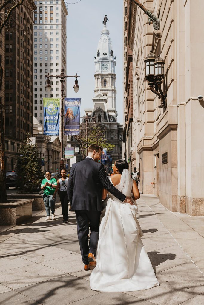
<path id="1" fill-rule="evenodd" d="M 91 117 L 95 117 L 97 125 L 103 130 L 104 138 L 106 138 L 109 143 L 115 145 L 114 149 L 108 152 L 108 155 L 111 156 L 114 162 L 114 160 L 122 159 L 123 125 L 117 121 L 116 56 L 113 52 L 112 41 L 109 37 L 109 30 L 107 29 L 106 24 L 104 24 L 101 31 L 94 63 L 95 96 L 92 99 L 93 108 L 85 109 L 85 113 L 90 117 L 90 122 L 93 122 Z M 72 137 L 70 143 L 72 146 L 79 146 L 77 145 L 77 142 L 74 141 L 74 137 Z M 76 160 L 79 160 L 79 155 L 76 155 Z M 108 167 L 110 167 L 110 164 Z"/>

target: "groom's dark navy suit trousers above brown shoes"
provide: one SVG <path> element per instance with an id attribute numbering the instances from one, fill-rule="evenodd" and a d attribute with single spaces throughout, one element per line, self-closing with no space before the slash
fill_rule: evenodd
<path id="1" fill-rule="evenodd" d="M 96 248 L 99 238 L 100 211 L 75 210 L 77 221 L 77 235 L 80 244 L 82 261 L 88 264 L 88 254 L 96 255 Z M 88 234 L 90 227 L 90 240 L 88 245 Z"/>

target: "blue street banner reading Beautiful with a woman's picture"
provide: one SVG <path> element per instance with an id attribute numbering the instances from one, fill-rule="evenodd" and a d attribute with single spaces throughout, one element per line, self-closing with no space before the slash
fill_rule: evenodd
<path id="1" fill-rule="evenodd" d="M 65 98 L 64 118 L 65 118 L 65 135 L 80 134 L 80 98 Z"/>

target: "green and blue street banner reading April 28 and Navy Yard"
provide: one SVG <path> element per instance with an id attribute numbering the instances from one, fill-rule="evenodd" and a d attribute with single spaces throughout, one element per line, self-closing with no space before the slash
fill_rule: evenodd
<path id="1" fill-rule="evenodd" d="M 59 135 L 60 99 L 43 98 L 44 135 Z"/>

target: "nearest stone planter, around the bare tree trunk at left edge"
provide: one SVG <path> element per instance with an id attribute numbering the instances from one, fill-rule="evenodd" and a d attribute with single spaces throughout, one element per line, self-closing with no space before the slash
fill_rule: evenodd
<path id="1" fill-rule="evenodd" d="M 12 203 L 0 203 L 0 225 L 15 226 L 32 217 L 33 199 L 16 200 Z"/>

